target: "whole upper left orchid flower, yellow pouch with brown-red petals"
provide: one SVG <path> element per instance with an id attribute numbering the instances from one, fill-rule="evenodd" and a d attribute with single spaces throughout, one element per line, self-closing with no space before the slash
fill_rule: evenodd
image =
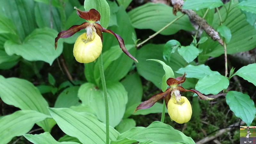
<path id="1" fill-rule="evenodd" d="M 102 51 L 102 32 L 113 34 L 119 42 L 120 48 L 123 52 L 134 61 L 138 62 L 125 48 L 124 40 L 118 34 L 115 34 L 112 30 L 105 29 L 96 23 L 100 20 L 100 13 L 95 9 L 89 11 L 81 11 L 76 9 L 76 13 L 88 22 L 84 22 L 81 25 L 74 25 L 66 31 L 61 31 L 55 38 L 55 49 L 57 49 L 58 40 L 60 38 L 68 38 L 76 32 L 85 29 L 86 33 L 81 34 L 74 44 L 74 57 L 76 61 L 80 63 L 90 63 L 95 61 Z"/>

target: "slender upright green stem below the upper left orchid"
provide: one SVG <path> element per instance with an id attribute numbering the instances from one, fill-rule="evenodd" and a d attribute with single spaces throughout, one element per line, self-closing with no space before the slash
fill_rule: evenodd
<path id="1" fill-rule="evenodd" d="M 108 112 L 108 95 L 107 95 L 107 86 L 106 86 L 106 80 L 103 70 L 103 61 L 102 61 L 102 52 L 100 54 L 99 59 L 99 68 L 100 68 L 100 78 L 102 82 L 102 89 L 104 94 L 104 100 L 105 100 L 105 113 L 106 113 L 106 144 L 109 144 L 109 112 Z"/>

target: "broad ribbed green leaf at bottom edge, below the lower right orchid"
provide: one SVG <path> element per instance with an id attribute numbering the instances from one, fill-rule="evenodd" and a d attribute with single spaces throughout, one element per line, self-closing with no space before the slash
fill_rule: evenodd
<path id="1" fill-rule="evenodd" d="M 127 144 L 131 144 L 136 141 L 152 141 L 156 144 L 195 143 L 190 137 L 187 137 L 182 132 L 175 130 L 172 126 L 155 121 L 148 127 L 135 127 L 120 134 L 116 141 L 111 141 L 111 144 L 120 144 L 125 142 Z"/>

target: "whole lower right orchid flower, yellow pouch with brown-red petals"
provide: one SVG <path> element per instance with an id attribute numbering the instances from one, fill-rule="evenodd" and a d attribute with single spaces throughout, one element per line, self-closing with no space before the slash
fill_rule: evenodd
<path id="1" fill-rule="evenodd" d="M 213 98 L 206 97 L 199 91 L 195 89 L 187 90 L 179 84 L 183 83 L 186 80 L 186 73 L 183 76 L 177 78 L 169 78 L 166 83 L 168 85 L 165 92 L 158 93 L 150 97 L 147 101 L 142 102 L 134 112 L 140 109 L 148 109 L 152 107 L 158 100 L 164 98 L 165 105 L 167 107 L 168 114 L 171 119 L 177 123 L 188 122 L 192 115 L 191 104 L 188 99 L 180 95 L 180 92 L 193 92 L 196 93 L 200 99 L 203 100 L 212 100 Z"/>

